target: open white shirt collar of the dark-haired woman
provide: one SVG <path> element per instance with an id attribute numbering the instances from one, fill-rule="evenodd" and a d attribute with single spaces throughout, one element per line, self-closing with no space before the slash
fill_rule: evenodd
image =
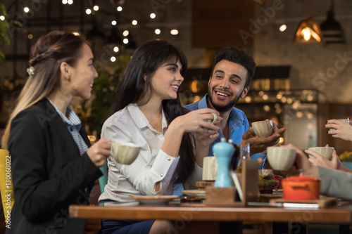
<path id="1" fill-rule="evenodd" d="M 153 129 L 151 124 L 149 124 L 148 119 L 146 119 L 146 116 L 143 114 L 142 110 L 139 109 L 137 103 L 130 103 L 129 105 L 127 105 L 127 109 L 130 113 L 133 114 L 131 115 L 132 119 L 137 124 L 139 129 L 148 127 L 149 129 L 156 131 L 155 129 Z M 163 135 L 165 135 L 166 130 L 168 129 L 168 121 L 166 120 L 163 108 L 161 109 L 161 112 L 163 114 L 163 119 L 161 120 L 162 133 Z"/>

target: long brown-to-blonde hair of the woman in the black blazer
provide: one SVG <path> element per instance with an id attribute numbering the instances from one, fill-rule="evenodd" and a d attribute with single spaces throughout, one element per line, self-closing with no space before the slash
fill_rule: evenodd
<path id="1" fill-rule="evenodd" d="M 34 105 L 56 88 L 60 79 L 61 63 L 66 62 L 70 66 L 75 66 L 82 55 L 83 44 L 88 43 L 72 32 L 52 31 L 39 37 L 32 46 L 29 65 L 33 73 L 23 86 L 18 103 L 8 120 L 2 139 L 4 148 L 7 148 L 12 119 L 20 111 Z"/>

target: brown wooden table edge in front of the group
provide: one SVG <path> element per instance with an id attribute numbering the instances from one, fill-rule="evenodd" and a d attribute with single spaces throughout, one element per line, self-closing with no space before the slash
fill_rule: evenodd
<path id="1" fill-rule="evenodd" d="M 264 221 L 275 223 L 334 223 L 340 233 L 349 233 L 352 205 L 327 209 L 284 209 L 282 207 L 207 207 L 206 205 L 165 206 L 70 206 L 71 218 L 84 219 L 168 219 L 200 226 L 221 222 Z M 219 226 L 218 226 L 219 227 Z"/>

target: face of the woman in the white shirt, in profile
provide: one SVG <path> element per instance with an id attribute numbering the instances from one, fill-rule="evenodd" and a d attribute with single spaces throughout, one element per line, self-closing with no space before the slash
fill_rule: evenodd
<path id="1" fill-rule="evenodd" d="M 176 99 L 177 91 L 180 88 L 184 78 L 180 71 L 182 65 L 179 60 L 169 60 L 163 63 L 151 77 L 151 86 L 153 87 L 153 98 L 159 100 Z"/>

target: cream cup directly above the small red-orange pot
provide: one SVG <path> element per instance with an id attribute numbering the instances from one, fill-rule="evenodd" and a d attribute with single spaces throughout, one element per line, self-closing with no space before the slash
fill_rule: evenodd
<path id="1" fill-rule="evenodd" d="M 267 148 L 268 162 L 275 171 L 289 170 L 296 160 L 296 150 L 271 146 Z"/>

